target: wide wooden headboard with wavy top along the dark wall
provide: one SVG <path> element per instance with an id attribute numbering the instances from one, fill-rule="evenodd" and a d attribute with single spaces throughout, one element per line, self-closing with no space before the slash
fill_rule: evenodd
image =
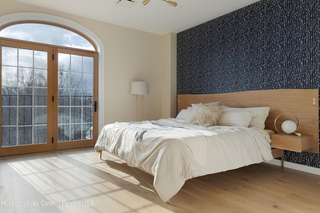
<path id="1" fill-rule="evenodd" d="M 290 119 L 289 113 L 299 119 L 297 132 L 313 136 L 313 148 L 307 152 L 319 153 L 319 95 L 318 89 L 273 89 L 259 91 L 232 92 L 205 95 L 177 95 L 178 113 L 181 109 L 191 106 L 191 103 L 209 103 L 220 101 L 219 105 L 229 107 L 260 107 L 269 106 L 269 115 L 265 121 L 265 128 L 273 130 L 274 119 L 280 116 L 282 120 Z M 289 113 L 287 113 L 289 112 Z M 278 120 L 277 120 L 278 121 Z M 278 122 L 277 122 L 278 123 Z M 279 123 L 282 123 L 279 120 Z M 278 130 L 280 128 L 277 127 Z"/>

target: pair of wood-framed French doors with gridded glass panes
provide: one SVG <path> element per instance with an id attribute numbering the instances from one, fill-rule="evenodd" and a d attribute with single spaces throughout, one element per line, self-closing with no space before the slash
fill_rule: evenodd
<path id="1" fill-rule="evenodd" d="M 94 145 L 96 53 L 0 44 L 0 156 Z"/>

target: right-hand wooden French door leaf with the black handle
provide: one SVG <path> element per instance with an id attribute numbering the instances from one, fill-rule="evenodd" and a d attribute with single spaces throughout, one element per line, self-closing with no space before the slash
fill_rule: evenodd
<path id="1" fill-rule="evenodd" d="M 54 50 L 58 103 L 53 143 L 56 149 L 93 146 L 97 138 L 97 54 Z"/>

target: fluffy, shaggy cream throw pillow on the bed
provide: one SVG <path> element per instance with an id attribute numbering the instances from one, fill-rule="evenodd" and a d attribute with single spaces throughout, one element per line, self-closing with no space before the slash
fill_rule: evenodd
<path id="1" fill-rule="evenodd" d="M 187 124 L 203 127 L 216 126 L 222 115 L 222 107 L 197 104 L 193 107 L 191 116 L 186 120 Z"/>

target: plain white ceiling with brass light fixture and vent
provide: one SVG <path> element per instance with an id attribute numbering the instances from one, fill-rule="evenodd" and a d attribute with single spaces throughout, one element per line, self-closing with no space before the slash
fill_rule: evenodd
<path id="1" fill-rule="evenodd" d="M 163 35 L 178 33 L 259 0 L 16 0 L 23 3 Z M 120 4 L 129 5 L 130 7 Z"/>

